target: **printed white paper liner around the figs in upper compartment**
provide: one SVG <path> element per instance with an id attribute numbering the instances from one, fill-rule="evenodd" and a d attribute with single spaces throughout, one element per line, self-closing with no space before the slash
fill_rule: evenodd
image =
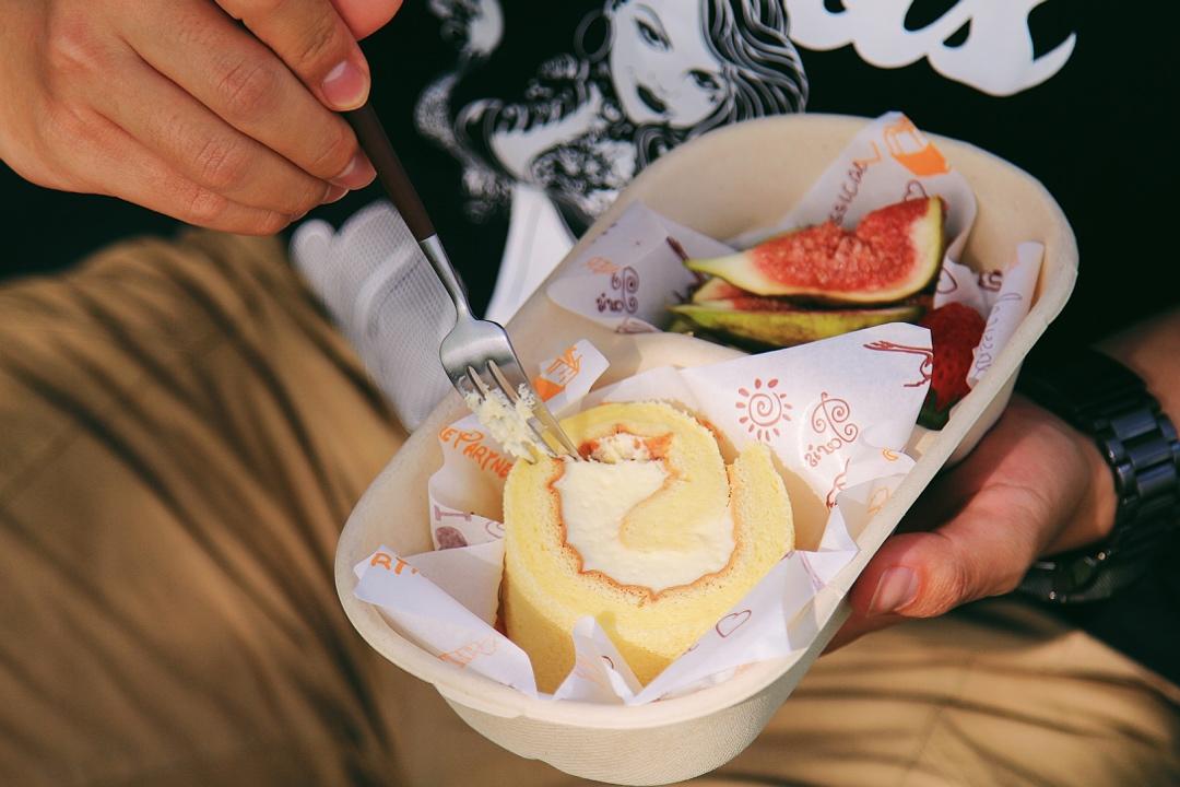
<path id="1" fill-rule="evenodd" d="M 828 219 L 852 228 L 872 210 L 931 196 L 943 197 L 948 205 L 948 245 L 933 306 L 966 303 L 986 320 L 968 376 L 974 386 L 1028 314 L 1043 247 L 1021 243 L 1012 250 L 1012 260 L 982 261 L 982 273 L 962 264 L 959 257 L 975 223 L 975 194 L 938 147 L 899 112 L 866 124 L 800 203 L 774 225 L 720 243 L 634 204 L 585 251 L 563 263 L 546 294 L 558 306 L 620 333 L 656 330 L 669 321 L 668 306 L 686 301 L 697 282 L 668 238 L 689 257 L 720 256 Z M 929 361 L 930 356 L 924 367 L 927 375 Z"/>

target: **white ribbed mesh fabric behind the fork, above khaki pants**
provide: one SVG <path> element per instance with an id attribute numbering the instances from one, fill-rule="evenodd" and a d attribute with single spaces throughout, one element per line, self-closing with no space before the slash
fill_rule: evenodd
<path id="1" fill-rule="evenodd" d="M 454 304 L 401 216 L 387 202 L 358 211 L 333 231 L 303 223 L 291 260 L 407 429 L 451 389 L 439 345 Z"/>

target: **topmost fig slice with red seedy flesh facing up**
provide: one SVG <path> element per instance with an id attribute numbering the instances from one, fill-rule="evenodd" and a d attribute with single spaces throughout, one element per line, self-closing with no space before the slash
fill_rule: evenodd
<path id="1" fill-rule="evenodd" d="M 879 208 L 848 231 L 832 222 L 778 235 L 722 257 L 688 260 L 755 295 L 828 303 L 892 303 L 927 287 L 945 247 L 942 197 Z"/>

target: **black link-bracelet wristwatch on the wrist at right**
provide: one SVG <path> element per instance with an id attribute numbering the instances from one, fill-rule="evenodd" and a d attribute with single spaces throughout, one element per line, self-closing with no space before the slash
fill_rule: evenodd
<path id="1" fill-rule="evenodd" d="M 1143 380 L 1094 349 L 1030 358 L 1016 389 L 1094 438 L 1114 473 L 1119 507 L 1107 540 L 1032 564 L 1020 590 L 1077 603 L 1140 578 L 1180 525 L 1180 440 Z"/>

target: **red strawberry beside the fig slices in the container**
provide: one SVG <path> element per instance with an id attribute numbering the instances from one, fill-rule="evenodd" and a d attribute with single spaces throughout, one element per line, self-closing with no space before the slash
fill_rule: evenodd
<path id="1" fill-rule="evenodd" d="M 935 368 L 918 422 L 940 429 L 946 425 L 950 408 L 971 391 L 966 385 L 966 374 L 985 323 L 971 307 L 946 303 L 929 311 L 919 324 L 930 329 Z"/>

